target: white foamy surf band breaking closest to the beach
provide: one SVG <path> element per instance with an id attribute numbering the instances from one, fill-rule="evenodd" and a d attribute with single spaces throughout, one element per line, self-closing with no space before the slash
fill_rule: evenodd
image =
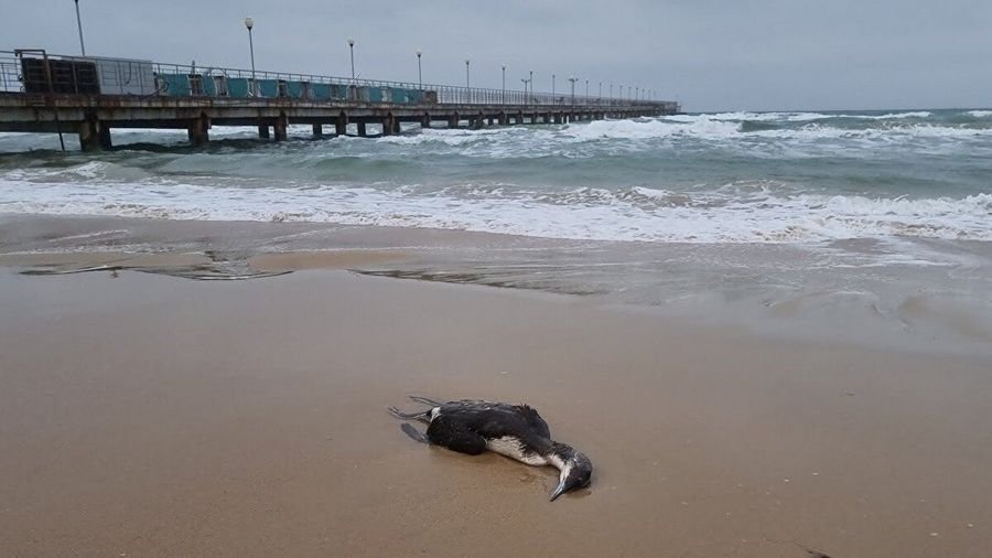
<path id="1" fill-rule="evenodd" d="M 700 192 L 646 186 L 559 192 L 465 184 L 245 189 L 0 181 L 0 212 L 201 221 L 298 221 L 677 243 L 815 243 L 924 237 L 992 240 L 992 195 L 886 198 L 794 193 L 774 184 Z"/>

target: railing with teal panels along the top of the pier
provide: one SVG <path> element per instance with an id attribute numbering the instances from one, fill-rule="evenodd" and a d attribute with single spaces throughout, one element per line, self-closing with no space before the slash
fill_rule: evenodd
<path id="1" fill-rule="evenodd" d="M 677 112 L 675 101 L 533 93 L 452 85 L 352 79 L 328 75 L 251 71 L 224 66 L 0 51 L 0 92 L 60 95 L 137 95 L 299 99 L 313 103 L 656 107 Z"/>

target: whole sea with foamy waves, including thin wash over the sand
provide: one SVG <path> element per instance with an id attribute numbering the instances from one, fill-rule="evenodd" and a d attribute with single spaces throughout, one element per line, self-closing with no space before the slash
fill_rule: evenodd
<path id="1" fill-rule="evenodd" d="M 83 153 L 67 136 L 62 152 L 55 136 L 0 133 L 0 218 L 114 217 L 77 238 L 0 238 L 0 251 L 196 250 L 211 240 L 150 238 L 128 219 L 266 223 L 225 248 L 416 250 L 358 271 L 992 355 L 988 109 L 112 140 Z"/>

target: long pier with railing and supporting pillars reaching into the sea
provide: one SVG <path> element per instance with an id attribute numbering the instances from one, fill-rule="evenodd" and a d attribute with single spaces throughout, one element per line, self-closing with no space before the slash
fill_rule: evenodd
<path id="1" fill-rule="evenodd" d="M 573 84 L 574 85 L 574 84 Z M 573 89 L 574 90 L 574 89 Z M 195 146 L 213 126 L 258 127 L 287 139 L 400 133 L 423 128 L 569 124 L 679 112 L 676 101 L 348 79 L 309 74 L 0 51 L 0 131 L 75 135 L 109 149 L 115 128 L 185 129 Z"/>

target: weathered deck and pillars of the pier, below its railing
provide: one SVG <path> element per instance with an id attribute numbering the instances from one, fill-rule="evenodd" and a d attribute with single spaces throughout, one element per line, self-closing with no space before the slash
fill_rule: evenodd
<path id="1" fill-rule="evenodd" d="M 196 97 L 80 96 L 0 94 L 0 131 L 75 133 L 82 149 L 110 147 L 112 128 L 186 129 L 194 144 L 209 139 L 212 126 L 258 126 L 260 138 L 285 139 L 287 126 L 312 125 L 344 135 L 356 124 L 357 135 L 398 133 L 401 122 L 473 129 L 487 125 L 568 124 L 604 118 L 635 118 L 671 114 L 661 105 L 567 106 L 500 104 L 368 104 L 300 99 L 222 99 Z M 270 135 L 271 130 L 271 135 Z"/>

